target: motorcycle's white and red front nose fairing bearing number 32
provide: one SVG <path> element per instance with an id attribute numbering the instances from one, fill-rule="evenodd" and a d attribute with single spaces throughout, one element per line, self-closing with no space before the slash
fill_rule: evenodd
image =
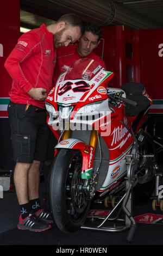
<path id="1" fill-rule="evenodd" d="M 93 101 L 99 100 L 99 98 L 101 100 L 108 98 L 105 83 L 114 76 L 113 72 L 102 69 L 90 81 L 84 81 L 82 78 L 75 81 L 65 80 L 66 73 L 60 75 L 55 90 L 52 89 L 48 94 L 47 101 L 49 103 L 51 103 L 49 101 L 51 97 L 53 97 L 54 102 L 58 102 L 62 106 L 70 106 L 86 100 L 91 103 L 92 96 Z M 90 95 L 91 98 L 89 99 Z"/>

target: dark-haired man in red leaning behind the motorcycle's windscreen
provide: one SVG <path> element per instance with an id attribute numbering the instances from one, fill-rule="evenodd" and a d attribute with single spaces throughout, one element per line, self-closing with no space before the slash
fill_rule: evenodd
<path id="1" fill-rule="evenodd" d="M 96 23 L 86 23 L 84 25 L 84 34 L 81 36 L 79 44 L 68 45 L 68 47 L 60 47 L 58 49 L 57 64 L 54 71 L 54 85 L 59 75 L 80 58 L 94 59 L 105 68 L 103 60 L 92 52 L 98 46 L 102 34 L 101 27 Z"/>

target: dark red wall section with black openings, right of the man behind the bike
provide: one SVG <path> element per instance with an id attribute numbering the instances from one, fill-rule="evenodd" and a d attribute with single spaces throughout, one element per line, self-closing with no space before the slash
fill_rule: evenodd
<path id="1" fill-rule="evenodd" d="M 124 26 L 105 26 L 103 29 L 103 60 L 106 69 L 115 76 L 109 82 L 112 87 L 135 81 L 140 82 L 139 32 Z M 99 48 L 95 52 L 100 56 Z"/>

